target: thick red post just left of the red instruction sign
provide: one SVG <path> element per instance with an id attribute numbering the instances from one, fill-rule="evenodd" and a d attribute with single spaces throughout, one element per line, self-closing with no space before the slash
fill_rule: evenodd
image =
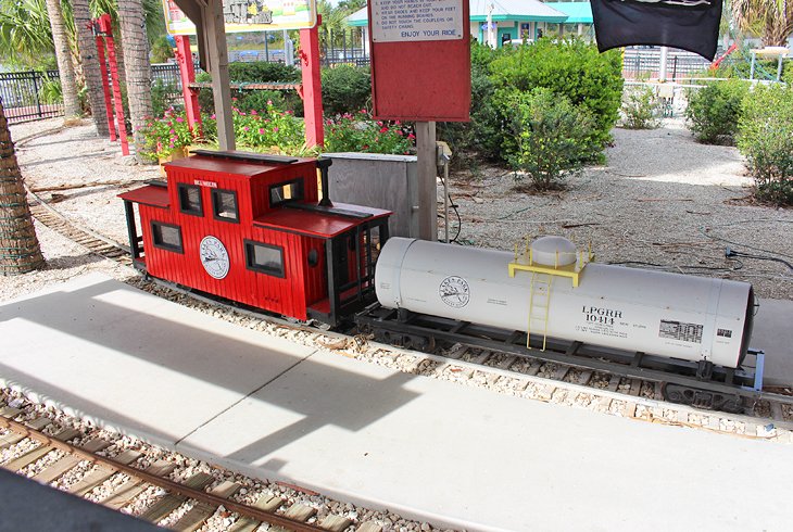
<path id="1" fill-rule="evenodd" d="M 305 112 L 305 143 L 309 148 L 325 143 L 323 125 L 323 87 L 319 76 L 319 25 L 300 30 L 300 61 L 303 72 L 303 110 Z"/>

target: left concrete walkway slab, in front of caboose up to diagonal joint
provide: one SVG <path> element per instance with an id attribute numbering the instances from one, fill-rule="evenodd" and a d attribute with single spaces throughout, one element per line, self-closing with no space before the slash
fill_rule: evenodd
<path id="1" fill-rule="evenodd" d="M 313 350 L 90 275 L 0 305 L 0 378 L 174 444 Z"/>

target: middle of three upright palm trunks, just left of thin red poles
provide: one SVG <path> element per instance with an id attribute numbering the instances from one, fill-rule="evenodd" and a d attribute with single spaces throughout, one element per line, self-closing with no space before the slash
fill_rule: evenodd
<path id="1" fill-rule="evenodd" d="M 88 11 L 88 0 L 72 0 L 74 10 L 74 25 L 77 27 L 77 45 L 79 48 L 83 75 L 88 89 L 88 104 L 91 106 L 91 116 L 100 137 L 110 137 L 108 129 L 108 111 L 104 106 L 104 89 L 102 74 L 99 71 L 97 58 L 97 41 L 90 29 L 91 13 Z"/>

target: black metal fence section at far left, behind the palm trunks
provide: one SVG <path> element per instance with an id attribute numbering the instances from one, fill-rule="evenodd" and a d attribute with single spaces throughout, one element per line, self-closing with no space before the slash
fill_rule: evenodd
<path id="1" fill-rule="evenodd" d="M 45 85 L 60 79 L 58 71 L 0 73 L 0 99 L 9 124 L 62 116 L 62 103 L 42 101 Z"/>

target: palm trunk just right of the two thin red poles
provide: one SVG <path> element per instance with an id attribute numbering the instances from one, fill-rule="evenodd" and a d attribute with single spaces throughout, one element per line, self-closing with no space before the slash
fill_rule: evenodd
<path id="1" fill-rule="evenodd" d="M 124 45 L 124 71 L 127 78 L 129 118 L 135 135 L 135 152 L 139 162 L 148 162 L 140 155 L 143 138 L 139 129 L 152 115 L 151 64 L 149 41 L 146 36 L 146 17 L 141 0 L 118 0 L 122 42 Z"/>

